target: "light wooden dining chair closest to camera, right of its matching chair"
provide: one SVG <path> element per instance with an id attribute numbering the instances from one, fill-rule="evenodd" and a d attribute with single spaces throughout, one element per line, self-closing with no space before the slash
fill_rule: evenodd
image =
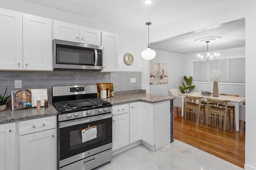
<path id="1" fill-rule="evenodd" d="M 209 117 L 223 119 L 224 120 L 224 131 L 226 129 L 226 118 L 229 117 L 229 126 L 230 124 L 230 109 L 228 109 L 228 102 L 229 100 L 215 100 L 207 98 L 207 126 L 208 126 L 208 119 Z M 214 104 L 210 104 L 214 103 Z M 220 117 L 222 116 L 222 117 Z"/>

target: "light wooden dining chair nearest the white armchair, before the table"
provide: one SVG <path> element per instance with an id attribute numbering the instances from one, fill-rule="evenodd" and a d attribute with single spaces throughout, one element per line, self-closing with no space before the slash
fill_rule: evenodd
<path id="1" fill-rule="evenodd" d="M 205 107 L 204 104 L 201 104 L 202 97 L 193 97 L 186 95 L 185 97 L 185 120 L 186 120 L 186 112 L 187 109 L 190 109 L 191 113 L 198 113 L 198 121 L 200 121 L 200 111 L 204 111 L 204 120 L 205 120 Z"/>

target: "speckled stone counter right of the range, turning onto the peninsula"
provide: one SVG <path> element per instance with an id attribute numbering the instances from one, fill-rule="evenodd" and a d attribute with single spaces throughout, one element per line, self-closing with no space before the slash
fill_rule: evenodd
<path id="1" fill-rule="evenodd" d="M 174 100 L 175 98 L 169 96 L 159 96 L 154 94 L 127 94 L 122 96 L 114 96 L 112 98 L 107 98 L 106 101 L 110 102 L 113 106 L 119 104 L 126 104 L 132 102 L 146 102 L 146 103 L 158 103 L 167 100 Z"/>

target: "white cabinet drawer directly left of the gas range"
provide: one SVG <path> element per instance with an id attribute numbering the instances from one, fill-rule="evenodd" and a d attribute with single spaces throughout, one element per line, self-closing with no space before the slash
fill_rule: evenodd
<path id="1" fill-rule="evenodd" d="M 56 128 L 56 116 L 20 121 L 20 135 Z"/>

